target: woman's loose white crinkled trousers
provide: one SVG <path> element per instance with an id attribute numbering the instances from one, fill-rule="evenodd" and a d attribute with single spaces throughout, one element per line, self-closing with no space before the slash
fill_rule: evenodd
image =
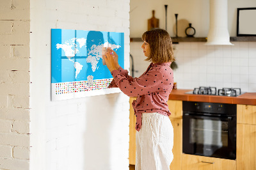
<path id="1" fill-rule="evenodd" d="M 136 170 L 168 170 L 173 160 L 173 127 L 168 116 L 142 114 L 142 126 L 136 132 Z"/>

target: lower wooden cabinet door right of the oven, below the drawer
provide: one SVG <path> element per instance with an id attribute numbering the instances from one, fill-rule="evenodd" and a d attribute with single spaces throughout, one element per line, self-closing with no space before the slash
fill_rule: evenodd
<path id="1" fill-rule="evenodd" d="M 256 125 L 237 124 L 237 170 L 256 169 Z"/>

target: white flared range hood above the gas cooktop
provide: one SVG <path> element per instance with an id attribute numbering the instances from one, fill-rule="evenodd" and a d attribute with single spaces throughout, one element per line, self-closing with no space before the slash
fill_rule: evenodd
<path id="1" fill-rule="evenodd" d="M 210 0 L 210 28 L 205 45 L 234 45 L 228 33 L 227 0 Z"/>

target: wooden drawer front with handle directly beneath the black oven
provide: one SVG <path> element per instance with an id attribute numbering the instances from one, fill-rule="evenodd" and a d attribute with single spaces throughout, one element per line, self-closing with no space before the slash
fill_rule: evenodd
<path id="1" fill-rule="evenodd" d="M 182 170 L 234 170 L 236 160 L 182 154 Z"/>

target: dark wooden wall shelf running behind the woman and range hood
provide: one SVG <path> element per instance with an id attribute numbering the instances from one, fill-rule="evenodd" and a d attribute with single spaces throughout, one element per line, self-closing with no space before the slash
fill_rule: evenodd
<path id="1" fill-rule="evenodd" d="M 142 40 L 141 38 L 130 38 L 130 42 L 142 42 Z M 172 37 L 172 42 L 206 42 L 206 37 Z M 232 36 L 230 42 L 256 42 L 256 36 Z"/>

